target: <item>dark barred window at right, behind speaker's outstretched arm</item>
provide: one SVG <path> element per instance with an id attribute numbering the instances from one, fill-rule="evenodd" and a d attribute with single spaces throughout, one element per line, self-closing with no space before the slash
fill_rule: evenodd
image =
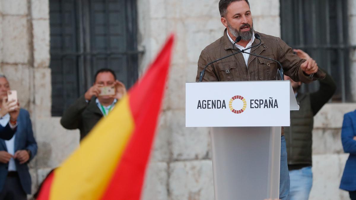
<path id="1" fill-rule="evenodd" d="M 347 0 L 280 0 L 282 39 L 307 52 L 335 80 L 332 102 L 351 101 Z M 318 82 L 303 84 L 315 91 Z"/>

